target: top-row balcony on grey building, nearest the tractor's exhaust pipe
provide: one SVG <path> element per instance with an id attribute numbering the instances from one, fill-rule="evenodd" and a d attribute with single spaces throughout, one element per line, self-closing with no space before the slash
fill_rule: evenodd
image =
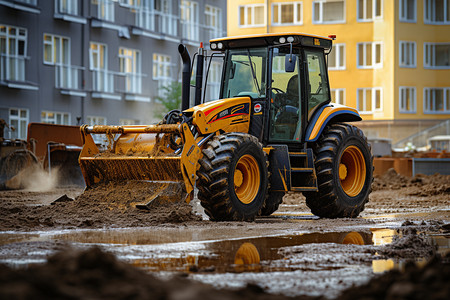
<path id="1" fill-rule="evenodd" d="M 175 38 L 178 34 L 178 17 L 164 14 L 157 10 L 140 9 L 136 11 L 136 27 L 133 34 L 156 39 L 179 42 Z"/>

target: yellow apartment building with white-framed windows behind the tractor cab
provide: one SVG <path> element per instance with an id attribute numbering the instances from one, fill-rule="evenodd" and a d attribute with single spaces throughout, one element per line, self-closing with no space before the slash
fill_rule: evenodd
<path id="1" fill-rule="evenodd" d="M 336 35 L 331 96 L 369 137 L 395 143 L 450 119 L 450 0 L 234 0 L 227 23 L 230 36 Z"/>

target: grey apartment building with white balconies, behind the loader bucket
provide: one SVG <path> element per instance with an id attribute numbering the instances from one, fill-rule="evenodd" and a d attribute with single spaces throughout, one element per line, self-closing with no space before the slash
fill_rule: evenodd
<path id="1" fill-rule="evenodd" d="M 179 43 L 192 56 L 225 35 L 220 0 L 0 0 L 0 118 L 16 128 L 5 137 L 26 138 L 29 122 L 159 121 Z"/>

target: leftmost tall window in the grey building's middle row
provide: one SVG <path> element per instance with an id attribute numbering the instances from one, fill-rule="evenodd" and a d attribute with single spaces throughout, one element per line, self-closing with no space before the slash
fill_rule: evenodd
<path id="1" fill-rule="evenodd" d="M 0 25 L 0 80 L 25 81 L 27 30 Z"/>

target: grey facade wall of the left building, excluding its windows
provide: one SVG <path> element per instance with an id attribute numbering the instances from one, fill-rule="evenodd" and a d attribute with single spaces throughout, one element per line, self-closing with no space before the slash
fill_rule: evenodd
<path id="1" fill-rule="evenodd" d="M 126 1 L 111 1 L 114 6 L 114 22 L 102 20 L 98 16 L 97 4 L 101 1 L 105 0 L 77 1 L 77 15 L 58 14 L 55 7 L 58 1 L 37 0 L 35 5 L 22 1 L 0 2 L 0 25 L 27 30 L 25 79 L 10 80 L 5 76 L 0 79 L 0 118 L 11 123 L 10 110 L 17 108 L 28 110 L 28 122 L 41 122 L 42 111 L 49 111 L 69 113 L 69 125 L 87 123 L 88 116 L 106 118 L 108 124 L 119 124 L 120 119 L 135 120 L 136 124 L 154 123 L 159 120 L 154 114 L 157 107 L 155 97 L 158 95 L 158 82 L 152 77 L 153 54 L 170 56 L 170 77 L 174 81 L 179 80 L 181 59 L 177 51 L 178 44 L 186 44 L 191 57 L 200 42 L 205 44 L 205 48 L 209 48 L 208 39 L 211 36 L 208 34 L 210 31 L 205 29 L 206 5 L 220 9 L 220 35 L 216 33 L 213 37 L 226 36 L 226 1 L 195 1 L 198 19 L 194 21 L 197 21 L 200 27 L 199 36 L 195 40 L 183 36 L 185 24 L 180 18 L 181 0 L 169 0 L 176 23 L 176 35 L 162 33 L 157 26 L 153 30 L 137 26 L 136 9 L 123 5 Z M 135 1 L 139 5 L 142 5 L 141 2 L 145 1 Z M 151 0 L 148 3 L 150 2 L 157 1 Z M 73 18 L 77 21 L 73 21 Z M 82 23 L 79 23 L 80 20 Z M 44 34 L 70 38 L 70 65 L 82 68 L 78 72 L 77 88 L 56 86 L 56 66 L 44 63 Z M 108 70 L 115 75 L 114 91 L 104 94 L 116 99 L 93 97 L 95 91 L 89 55 L 91 42 L 107 45 Z M 144 76 L 140 93 L 124 91 L 125 76 L 118 74 L 121 47 L 140 52 L 140 71 Z M 126 100 L 130 97 L 138 100 Z M 8 136 L 9 133 L 6 132 L 5 137 Z M 24 138 L 23 134 L 20 137 Z"/>

